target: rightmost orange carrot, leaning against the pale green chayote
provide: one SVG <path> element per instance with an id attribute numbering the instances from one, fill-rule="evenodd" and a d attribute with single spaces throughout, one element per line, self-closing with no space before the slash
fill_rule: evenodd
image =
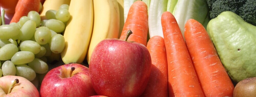
<path id="1" fill-rule="evenodd" d="M 204 26 L 189 19 L 185 24 L 184 37 L 205 96 L 233 96 L 234 85 Z"/>

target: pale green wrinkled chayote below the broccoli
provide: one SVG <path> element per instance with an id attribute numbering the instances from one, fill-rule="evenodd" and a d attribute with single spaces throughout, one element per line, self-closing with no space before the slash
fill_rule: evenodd
<path id="1" fill-rule="evenodd" d="M 256 77 L 256 26 L 225 11 L 209 21 L 207 32 L 233 82 Z"/>

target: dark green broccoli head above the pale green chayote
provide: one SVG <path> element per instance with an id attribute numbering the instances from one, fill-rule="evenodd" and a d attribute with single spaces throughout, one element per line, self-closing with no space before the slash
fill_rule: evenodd
<path id="1" fill-rule="evenodd" d="M 210 18 L 216 18 L 223 11 L 232 11 L 244 21 L 256 26 L 256 0 L 206 0 Z"/>

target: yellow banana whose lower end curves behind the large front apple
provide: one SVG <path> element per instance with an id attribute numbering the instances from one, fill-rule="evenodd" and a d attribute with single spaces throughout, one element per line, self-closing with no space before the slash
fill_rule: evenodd
<path id="1" fill-rule="evenodd" d="M 118 38 L 120 13 L 116 0 L 93 0 L 94 23 L 92 38 L 87 53 L 87 62 L 95 46 L 103 39 Z"/>

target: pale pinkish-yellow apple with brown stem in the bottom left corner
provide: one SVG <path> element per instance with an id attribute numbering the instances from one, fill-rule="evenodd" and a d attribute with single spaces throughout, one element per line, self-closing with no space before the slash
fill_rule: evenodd
<path id="1" fill-rule="evenodd" d="M 19 79 L 19 83 L 15 84 L 12 91 L 7 93 L 9 87 L 15 79 Z M 26 78 L 20 76 L 7 75 L 0 77 L 0 97 L 39 97 L 37 88 Z"/>

